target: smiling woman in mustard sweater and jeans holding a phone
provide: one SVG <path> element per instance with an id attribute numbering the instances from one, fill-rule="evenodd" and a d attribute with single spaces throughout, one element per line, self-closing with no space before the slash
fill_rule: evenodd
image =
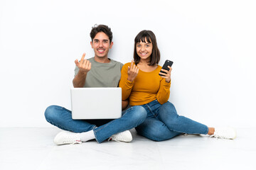
<path id="1" fill-rule="evenodd" d="M 181 133 L 234 139 L 233 128 L 208 128 L 176 113 L 174 105 L 168 101 L 171 67 L 169 71 L 161 69 L 159 60 L 154 33 L 142 30 L 134 39 L 134 61 L 124 64 L 119 82 L 122 100 L 129 99 L 130 106 L 142 106 L 146 110 L 146 120 L 136 128 L 138 134 L 155 141 L 169 140 Z M 164 73 L 159 76 L 161 70 Z"/>

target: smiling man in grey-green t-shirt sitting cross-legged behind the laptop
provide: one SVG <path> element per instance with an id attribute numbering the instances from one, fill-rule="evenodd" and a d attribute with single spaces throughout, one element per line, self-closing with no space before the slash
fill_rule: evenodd
<path id="1" fill-rule="evenodd" d="M 74 87 L 116 87 L 121 77 L 122 63 L 108 58 L 112 48 L 112 31 L 108 26 L 94 26 L 91 30 L 90 45 L 95 56 L 86 60 L 85 53 L 80 62 L 75 60 Z M 126 108 L 128 101 L 122 101 Z M 107 111 L 107 108 L 106 108 Z M 62 129 L 55 136 L 57 145 L 75 144 L 95 139 L 101 143 L 107 139 L 119 142 L 132 141 L 129 129 L 144 122 L 146 111 L 142 106 L 134 106 L 122 112 L 122 118 L 115 120 L 73 120 L 71 111 L 60 106 L 49 106 L 45 112 L 46 120 Z"/>

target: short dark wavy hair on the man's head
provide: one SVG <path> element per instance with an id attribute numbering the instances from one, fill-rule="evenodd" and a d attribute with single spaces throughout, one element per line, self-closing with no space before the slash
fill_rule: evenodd
<path id="1" fill-rule="evenodd" d="M 95 26 L 92 27 L 92 30 L 90 32 L 90 37 L 92 38 L 92 41 L 93 41 L 93 38 L 95 38 L 96 34 L 100 32 L 105 33 L 110 38 L 110 43 L 112 42 L 113 35 L 112 35 L 111 29 L 108 26 L 105 26 L 102 24 L 101 25 L 95 24 Z"/>

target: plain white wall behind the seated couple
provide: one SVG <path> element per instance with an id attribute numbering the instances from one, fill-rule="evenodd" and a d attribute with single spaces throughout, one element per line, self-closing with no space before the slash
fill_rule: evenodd
<path id="1" fill-rule="evenodd" d="M 0 127 L 51 127 L 47 106 L 70 108 L 75 59 L 92 57 L 90 30 L 112 28 L 109 57 L 130 62 L 152 30 L 161 61 L 174 61 L 180 115 L 209 126 L 251 126 L 256 103 L 255 1 L 0 0 Z"/>

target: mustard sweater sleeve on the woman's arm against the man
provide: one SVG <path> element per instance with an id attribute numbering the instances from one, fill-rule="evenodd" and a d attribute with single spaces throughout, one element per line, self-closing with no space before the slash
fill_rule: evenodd
<path id="1" fill-rule="evenodd" d="M 122 88 L 122 101 L 125 101 L 125 100 L 127 100 L 127 98 L 129 98 L 131 91 L 132 91 L 132 87 L 134 86 L 134 81 L 127 80 L 128 65 L 129 65 L 129 63 L 124 64 L 124 66 L 122 67 L 121 79 L 119 81 L 119 87 Z"/>

